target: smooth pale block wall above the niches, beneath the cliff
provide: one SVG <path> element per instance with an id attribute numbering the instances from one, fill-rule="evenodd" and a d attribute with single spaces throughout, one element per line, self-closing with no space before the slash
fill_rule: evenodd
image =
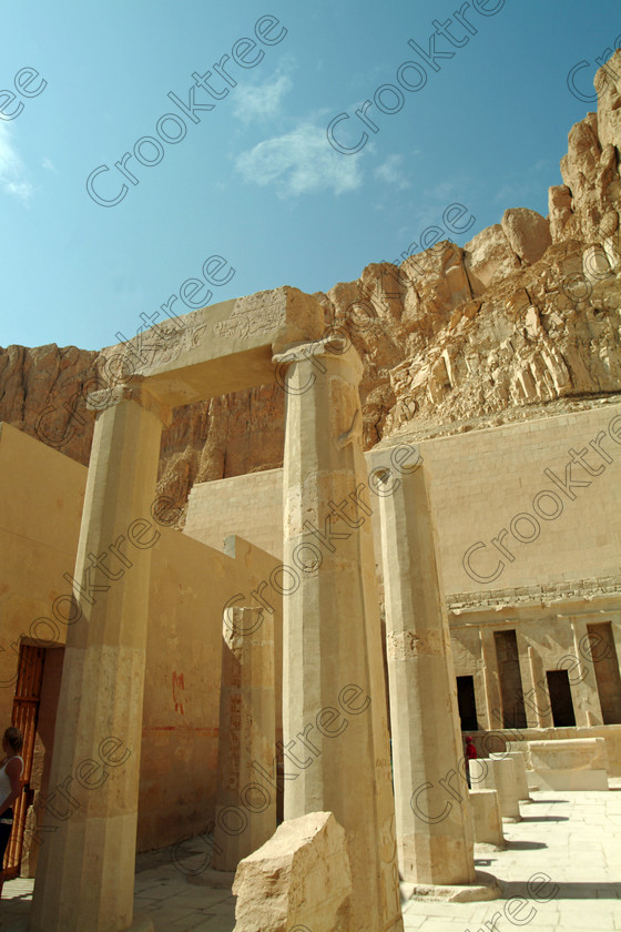
<path id="1" fill-rule="evenodd" d="M 480 600 L 499 589 L 520 594 L 619 578 L 620 404 L 604 399 L 588 411 L 424 440 L 419 447 L 430 476 L 447 598 Z M 582 450 L 586 466 L 579 462 Z M 553 495 L 541 495 L 546 490 Z M 375 507 L 374 525 L 377 514 Z M 194 486 L 186 534 L 220 546 L 225 534 L 242 528 L 247 540 L 282 555 L 281 469 Z"/>

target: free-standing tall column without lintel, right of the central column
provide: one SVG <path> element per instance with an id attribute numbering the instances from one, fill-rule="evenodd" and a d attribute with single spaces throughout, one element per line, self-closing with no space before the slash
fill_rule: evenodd
<path id="1" fill-rule="evenodd" d="M 457 685 L 425 468 L 371 454 L 379 499 L 397 845 L 404 880 L 476 879 Z M 404 457 L 405 459 L 405 457 Z"/>

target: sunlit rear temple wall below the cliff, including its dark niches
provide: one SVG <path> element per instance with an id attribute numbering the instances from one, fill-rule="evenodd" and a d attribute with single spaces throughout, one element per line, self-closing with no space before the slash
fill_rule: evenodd
<path id="1" fill-rule="evenodd" d="M 456 676 L 472 677 L 478 727 L 502 728 L 508 720 L 560 733 L 566 726 L 549 731 L 548 675 L 562 670 L 576 728 L 605 732 L 621 722 L 621 405 L 472 430 L 419 448 L 430 476 Z M 578 462 L 583 449 L 587 467 Z M 563 492 L 568 480 L 572 488 Z M 542 490 L 556 498 L 538 496 Z M 377 500 L 369 489 L 364 497 L 374 507 L 378 548 Z M 554 510 L 554 518 L 539 514 Z M 281 469 L 194 487 L 185 533 L 211 543 L 231 526 L 282 558 Z M 465 560 L 478 543 L 483 546 Z M 595 665 L 589 630 L 602 624 L 610 624 L 610 642 L 600 646 L 604 662 Z M 610 747 L 610 763 L 621 773 L 619 741 Z"/>

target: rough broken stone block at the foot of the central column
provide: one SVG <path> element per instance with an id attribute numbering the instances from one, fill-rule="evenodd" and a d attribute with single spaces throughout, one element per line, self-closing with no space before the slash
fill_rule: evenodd
<path id="1" fill-rule="evenodd" d="M 352 877 L 344 829 L 332 812 L 283 822 L 237 868 L 234 932 L 350 932 Z"/>

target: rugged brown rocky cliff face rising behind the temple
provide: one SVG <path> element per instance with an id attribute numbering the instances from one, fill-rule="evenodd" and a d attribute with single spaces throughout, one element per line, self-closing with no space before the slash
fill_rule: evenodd
<path id="1" fill-rule="evenodd" d="M 505 212 L 464 249 L 438 243 L 316 296 L 360 353 L 365 444 L 544 416 L 621 392 L 621 52 L 595 77 L 549 216 Z M 0 419 L 88 463 L 96 353 L 0 350 Z M 160 492 L 282 464 L 284 394 L 243 392 L 175 412 Z"/>

